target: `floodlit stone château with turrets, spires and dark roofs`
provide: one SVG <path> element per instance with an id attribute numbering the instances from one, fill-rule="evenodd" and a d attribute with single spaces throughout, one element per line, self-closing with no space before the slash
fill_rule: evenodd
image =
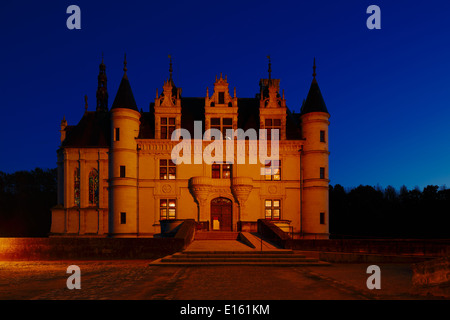
<path id="1" fill-rule="evenodd" d="M 108 109 L 106 67 L 98 76 L 97 108 L 75 126 L 61 122 L 58 150 L 58 205 L 52 209 L 53 236 L 151 237 L 161 220 L 195 219 L 199 228 L 256 231 L 258 219 L 270 219 L 296 238 L 328 238 L 329 113 L 314 78 L 300 113 L 286 107 L 280 80 L 260 80 L 254 98 L 230 93 L 227 77 L 216 77 L 206 96 L 183 97 L 170 77 L 150 110 L 139 110 L 127 76 Z M 202 154 L 211 145 L 193 139 L 192 163 L 175 165 L 171 153 L 179 141 L 172 132 L 194 123 L 208 129 L 267 129 L 279 132 L 279 169 L 250 163 L 261 139 L 232 146 L 234 155 L 208 164 Z M 209 136 L 204 138 L 208 140 Z M 224 144 L 228 137 L 221 141 Z M 268 141 L 269 146 L 272 140 Z M 185 150 L 183 150 L 185 151 Z M 226 152 L 226 151 L 224 151 Z M 245 154 L 245 163 L 236 157 Z M 225 161 L 228 160 L 228 161 Z M 229 161 L 231 160 L 231 161 Z M 234 160 L 234 161 L 233 161 Z"/>

